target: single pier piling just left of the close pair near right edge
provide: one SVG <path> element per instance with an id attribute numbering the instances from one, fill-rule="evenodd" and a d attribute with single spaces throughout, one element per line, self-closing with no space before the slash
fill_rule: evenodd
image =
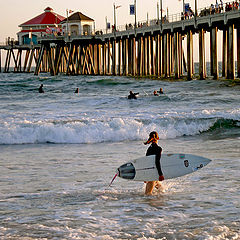
<path id="1" fill-rule="evenodd" d="M 217 48 L 217 27 L 212 28 L 212 68 L 213 68 L 213 79 L 218 79 L 218 48 Z"/>

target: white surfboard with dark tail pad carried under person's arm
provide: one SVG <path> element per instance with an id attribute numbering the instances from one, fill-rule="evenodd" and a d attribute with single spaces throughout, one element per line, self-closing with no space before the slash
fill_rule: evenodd
<path id="1" fill-rule="evenodd" d="M 134 159 L 117 169 L 118 177 L 133 181 L 158 181 L 155 155 Z M 162 154 L 160 159 L 164 179 L 193 173 L 211 162 L 210 159 L 192 154 Z"/>

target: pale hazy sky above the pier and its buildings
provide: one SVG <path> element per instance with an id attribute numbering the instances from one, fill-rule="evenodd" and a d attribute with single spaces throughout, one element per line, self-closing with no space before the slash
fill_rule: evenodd
<path id="1" fill-rule="evenodd" d="M 157 0 L 136 1 L 137 21 L 146 20 L 147 14 L 149 19 L 157 18 Z M 66 9 L 80 11 L 95 20 L 96 29 L 105 28 L 105 17 L 113 24 L 114 2 L 116 6 L 122 6 L 116 10 L 117 25 L 133 23 L 134 16 L 129 15 L 129 5 L 133 4 L 134 0 L 0 0 L 0 42 L 5 42 L 8 36 L 17 39 L 16 33 L 20 30 L 18 25 L 43 13 L 46 7 L 53 8 L 54 12 L 62 16 L 66 16 Z M 194 9 L 194 0 L 185 2 L 190 3 Z M 209 6 L 211 3 L 215 3 L 215 0 L 198 0 L 198 8 Z M 168 7 L 170 15 L 181 12 L 182 6 L 183 3 L 179 0 L 163 0 L 163 9 Z"/>

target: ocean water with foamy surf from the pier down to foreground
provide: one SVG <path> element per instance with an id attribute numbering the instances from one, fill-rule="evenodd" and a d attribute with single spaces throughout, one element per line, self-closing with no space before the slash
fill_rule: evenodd
<path id="1" fill-rule="evenodd" d="M 109 187 L 154 130 L 212 162 L 152 196 Z M 0 153 L 0 239 L 240 239 L 239 84 L 1 73 Z"/>

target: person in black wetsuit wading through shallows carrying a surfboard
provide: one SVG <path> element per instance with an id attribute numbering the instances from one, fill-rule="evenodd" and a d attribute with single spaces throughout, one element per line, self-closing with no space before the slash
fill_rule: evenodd
<path id="1" fill-rule="evenodd" d="M 146 156 L 156 155 L 155 163 L 156 163 L 156 167 L 158 170 L 159 181 L 163 181 L 164 176 L 163 176 L 161 166 L 160 166 L 160 158 L 161 158 L 162 148 L 160 146 L 158 146 L 158 144 L 157 144 L 158 140 L 159 140 L 158 133 L 153 131 L 149 134 L 149 138 L 144 144 L 147 145 L 147 144 L 151 143 L 151 145 L 149 146 L 149 148 L 147 150 Z M 152 195 L 152 191 L 153 191 L 154 187 L 159 187 L 158 181 L 146 182 L 145 194 Z"/>

